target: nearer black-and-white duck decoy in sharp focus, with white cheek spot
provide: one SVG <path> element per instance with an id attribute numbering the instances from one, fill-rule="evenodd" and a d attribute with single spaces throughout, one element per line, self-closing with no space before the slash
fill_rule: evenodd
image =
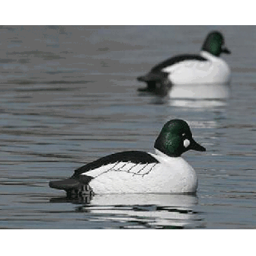
<path id="1" fill-rule="evenodd" d="M 82 194 L 193 194 L 197 175 L 181 154 L 206 151 L 192 137 L 184 120 L 165 123 L 155 140 L 155 154 L 118 152 L 75 170 L 71 178 L 50 181 L 50 187 L 66 190 L 67 196 Z"/>

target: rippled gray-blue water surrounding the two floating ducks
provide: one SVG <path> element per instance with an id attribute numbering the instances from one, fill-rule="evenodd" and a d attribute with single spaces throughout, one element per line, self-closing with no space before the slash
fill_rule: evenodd
<path id="1" fill-rule="evenodd" d="M 198 53 L 221 30 L 232 55 L 226 101 L 139 94 L 156 63 Z M 256 27 L 1 27 L 0 228 L 255 229 Z M 48 183 L 125 150 L 153 152 L 181 118 L 206 152 L 183 157 L 196 196 L 96 195 L 67 200 Z"/>

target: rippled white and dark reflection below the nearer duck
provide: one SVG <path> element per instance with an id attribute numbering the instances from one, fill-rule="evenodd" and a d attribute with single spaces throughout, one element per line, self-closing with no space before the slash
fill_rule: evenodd
<path id="1" fill-rule="evenodd" d="M 85 213 L 85 221 L 108 229 L 184 229 L 203 227 L 203 213 L 194 210 L 198 200 L 192 195 L 113 194 L 95 195 L 91 200 L 54 198 L 51 203 L 74 203 Z"/>

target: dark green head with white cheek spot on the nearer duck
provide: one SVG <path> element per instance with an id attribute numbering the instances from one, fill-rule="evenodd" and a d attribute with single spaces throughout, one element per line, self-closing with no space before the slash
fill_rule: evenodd
<path id="1" fill-rule="evenodd" d="M 165 123 L 155 140 L 155 149 L 172 157 L 181 156 L 187 150 L 206 151 L 192 138 L 190 127 L 184 120 L 174 119 Z"/>

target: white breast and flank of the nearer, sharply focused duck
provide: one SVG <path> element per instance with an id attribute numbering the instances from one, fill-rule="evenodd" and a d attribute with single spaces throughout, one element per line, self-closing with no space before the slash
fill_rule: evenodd
<path id="1" fill-rule="evenodd" d="M 156 150 L 157 151 L 157 150 Z M 126 154 L 127 152 L 123 152 Z M 141 152 L 134 151 L 134 156 Z M 195 193 L 197 175 L 183 158 L 171 158 L 157 152 L 146 153 L 154 162 L 115 162 L 85 172 L 94 179 L 90 182 L 95 194 Z"/>

